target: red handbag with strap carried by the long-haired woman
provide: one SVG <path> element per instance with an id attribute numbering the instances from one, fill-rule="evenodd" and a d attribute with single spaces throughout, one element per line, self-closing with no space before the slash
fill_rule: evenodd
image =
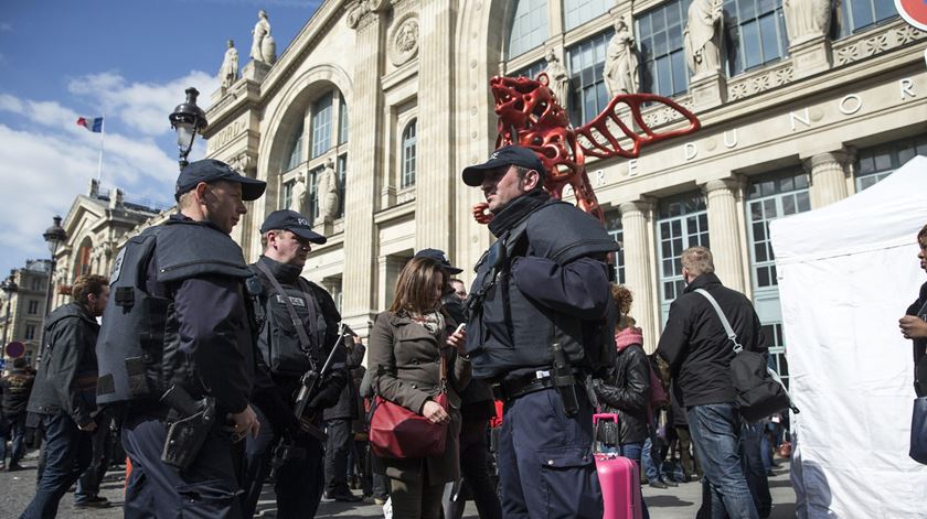
<path id="1" fill-rule="evenodd" d="M 441 349 L 440 393 L 431 400 L 447 411 L 447 366 Z M 431 423 L 427 418 L 377 394 L 370 418 L 370 448 L 387 458 L 416 458 L 441 455 L 447 445 L 447 422 Z"/>

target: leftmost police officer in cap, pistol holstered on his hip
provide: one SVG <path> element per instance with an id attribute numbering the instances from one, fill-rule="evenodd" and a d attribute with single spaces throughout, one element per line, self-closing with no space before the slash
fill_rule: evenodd
<path id="1" fill-rule="evenodd" d="M 242 517 L 239 441 L 259 429 L 248 403 L 254 274 L 230 233 L 265 186 L 217 160 L 189 164 L 178 214 L 129 240 L 114 263 L 97 401 L 125 411 L 128 518 Z"/>

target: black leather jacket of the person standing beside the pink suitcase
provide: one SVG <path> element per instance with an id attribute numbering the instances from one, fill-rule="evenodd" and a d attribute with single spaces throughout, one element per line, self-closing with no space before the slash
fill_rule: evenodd
<path id="1" fill-rule="evenodd" d="M 604 413 L 618 414 L 618 425 L 606 422 L 599 429 L 598 440 L 607 445 L 643 443 L 647 439 L 647 408 L 650 404 L 650 364 L 640 345 L 640 331 L 625 328 L 615 337 L 621 344 L 621 334 L 637 331 L 638 340 L 622 345 L 615 357 L 611 371 L 605 380 L 596 379 L 593 386 Z"/>

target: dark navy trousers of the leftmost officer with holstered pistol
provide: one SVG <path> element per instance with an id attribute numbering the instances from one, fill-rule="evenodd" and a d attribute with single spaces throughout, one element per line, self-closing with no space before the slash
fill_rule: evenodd
<path id="1" fill-rule="evenodd" d="M 238 471 L 244 442 L 233 444 L 222 426 L 216 423 L 193 464 L 178 473 L 161 462 L 164 422 L 152 415 L 127 417 L 122 447 L 132 462 L 132 473 L 126 485 L 124 517 L 242 518 Z"/>

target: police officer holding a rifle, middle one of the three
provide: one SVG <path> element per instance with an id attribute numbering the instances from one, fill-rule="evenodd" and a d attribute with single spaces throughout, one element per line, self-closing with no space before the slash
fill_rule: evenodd
<path id="1" fill-rule="evenodd" d="M 245 512 L 251 517 L 254 511 L 270 471 L 274 446 L 287 435 L 296 448 L 276 477 L 277 515 L 311 518 L 324 482 L 321 411 L 338 401 L 348 383 L 343 349 L 335 352 L 321 390 L 308 402 L 303 418 L 308 423 L 297 421 L 292 407 L 303 374 L 321 370 L 338 340 L 341 315 L 324 289 L 300 277 L 311 244 L 326 242 L 302 215 L 294 210 L 270 213 L 260 226 L 260 241 L 264 255 L 251 268 L 262 280 L 257 344 L 262 369 L 269 370 L 273 385 L 257 388 L 254 396 L 262 433 L 247 443 Z"/>

